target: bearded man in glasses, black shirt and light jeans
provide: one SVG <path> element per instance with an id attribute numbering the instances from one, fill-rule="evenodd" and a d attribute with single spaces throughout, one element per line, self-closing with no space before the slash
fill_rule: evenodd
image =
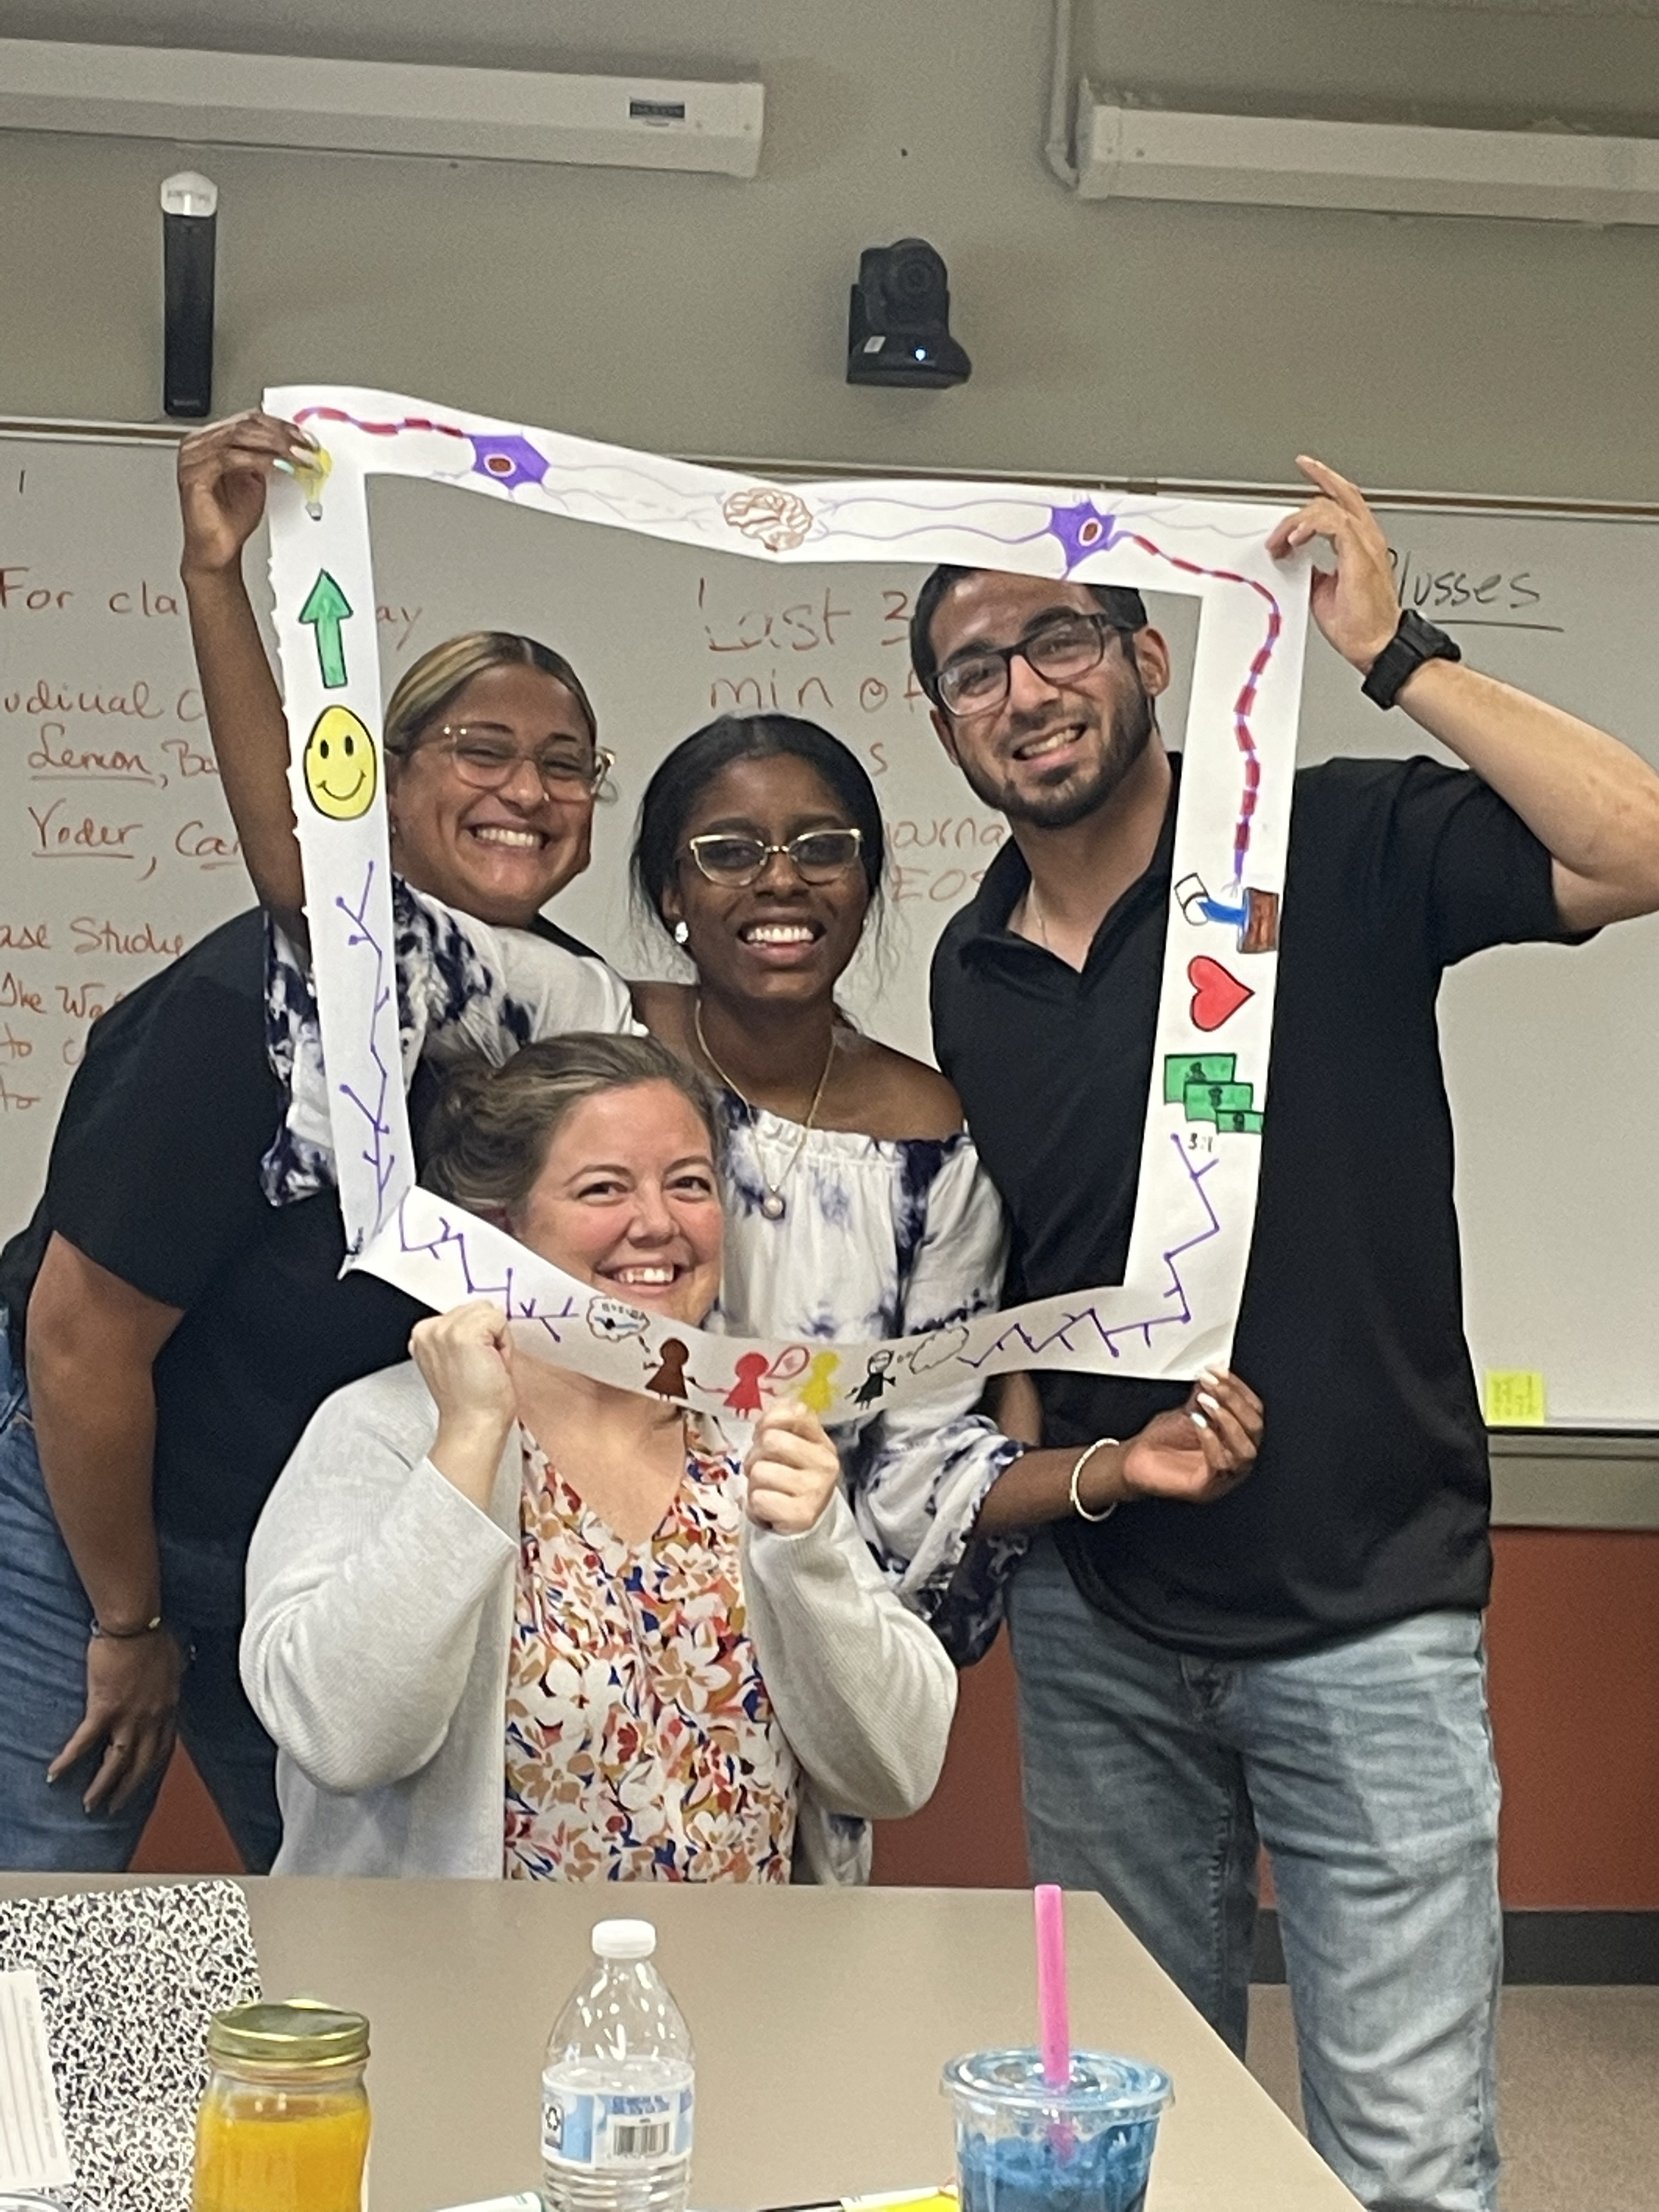
<path id="1" fill-rule="evenodd" d="M 1265 1405 L 1252 1480 L 1203 1511 L 1130 1500 L 1110 1440 L 1183 1385 L 1037 1378 L 1095 1506 L 1013 1582 L 1026 1827 L 1035 1878 L 1099 1889 L 1239 2053 L 1265 1843 L 1316 2148 L 1376 2212 L 1491 2212 L 1489 1471 L 1436 993 L 1482 947 L 1659 907 L 1659 776 L 1453 666 L 1354 484 L 1303 467 L 1318 495 L 1270 551 L 1334 544 L 1318 628 L 1467 770 L 1296 776 L 1234 1345 Z M 1170 911 L 1168 648 L 1133 591 L 940 568 L 911 657 L 1011 830 L 933 958 L 938 1064 L 1013 1223 L 1006 1303 L 1117 1283 Z"/>

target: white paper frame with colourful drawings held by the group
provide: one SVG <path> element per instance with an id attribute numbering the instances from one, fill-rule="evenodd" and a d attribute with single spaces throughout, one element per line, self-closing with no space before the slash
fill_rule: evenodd
<path id="1" fill-rule="evenodd" d="M 1228 1356 L 1254 1219 L 1307 628 L 1310 560 L 1279 566 L 1263 549 L 1283 509 L 973 480 L 763 482 L 385 392 L 281 387 L 265 405 L 307 427 L 327 458 L 325 476 L 272 498 L 272 588 L 334 1150 L 356 1265 L 436 1310 L 493 1296 L 522 1323 L 515 1334 L 526 1349 L 630 1389 L 644 1389 L 661 1367 L 664 1338 L 688 1340 L 699 1376 L 688 1376 L 686 1402 L 706 1411 L 754 1413 L 807 1365 L 801 1345 L 710 1336 L 619 1307 L 411 1181 L 385 776 L 376 774 L 367 812 L 330 818 L 307 801 L 301 770 L 330 706 L 354 712 L 378 743 L 367 478 L 396 473 L 774 564 L 956 560 L 1188 591 L 1201 602 L 1124 1283 L 887 1345 L 836 1345 L 841 1380 L 825 1378 L 821 1389 L 834 1420 L 869 1402 L 858 1389 L 876 1374 L 883 1402 L 896 1402 L 925 1394 L 945 1365 L 1190 1376 Z M 319 591 L 325 577 L 336 593 Z M 365 611 L 367 635 L 354 635 L 345 650 L 354 608 Z"/>

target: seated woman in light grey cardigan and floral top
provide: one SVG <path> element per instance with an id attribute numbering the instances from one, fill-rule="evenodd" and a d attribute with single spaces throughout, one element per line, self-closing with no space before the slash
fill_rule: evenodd
<path id="1" fill-rule="evenodd" d="M 445 1099 L 429 1183 L 628 1305 L 719 1292 L 719 1117 L 650 1037 Z M 330 1398 L 248 1557 L 279 1874 L 860 1880 L 927 1801 L 956 1674 L 794 1402 L 748 1462 L 664 1398 L 513 1352 L 491 1305 Z"/>

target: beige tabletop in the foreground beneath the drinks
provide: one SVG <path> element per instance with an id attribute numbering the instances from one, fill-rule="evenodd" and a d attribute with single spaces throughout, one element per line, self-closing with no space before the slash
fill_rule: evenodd
<path id="1" fill-rule="evenodd" d="M 0 1893 L 80 1887 L 104 1885 L 0 1876 Z M 1026 1891 L 243 1887 L 265 1993 L 369 2015 L 372 2212 L 535 2185 L 542 2046 L 608 1913 L 657 1922 L 657 1964 L 697 2044 L 692 2203 L 708 2212 L 945 2179 L 940 2066 L 1035 2042 Z M 1066 1924 L 1077 2044 L 1175 2079 L 1148 2212 L 1354 2212 L 1117 1916 L 1073 1896 Z"/>

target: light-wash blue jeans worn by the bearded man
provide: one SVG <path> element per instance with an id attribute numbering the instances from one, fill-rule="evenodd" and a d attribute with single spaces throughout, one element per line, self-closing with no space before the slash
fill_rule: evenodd
<path id="1" fill-rule="evenodd" d="M 1272 1858 L 1307 2135 L 1371 2212 L 1493 2212 L 1498 1770 L 1473 1613 L 1290 1659 L 1150 1644 L 1015 1573 L 1031 1865 L 1099 1889 L 1243 2057 Z"/>

